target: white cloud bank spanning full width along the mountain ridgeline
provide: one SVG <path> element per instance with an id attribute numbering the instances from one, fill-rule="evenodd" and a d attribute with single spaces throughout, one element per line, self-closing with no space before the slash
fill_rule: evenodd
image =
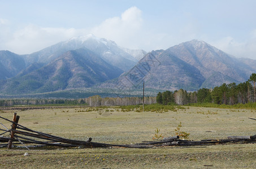
<path id="1" fill-rule="evenodd" d="M 181 18 L 183 22 L 180 22 Z M 165 50 L 181 42 L 199 39 L 236 57 L 256 59 L 256 28 L 250 30 L 248 38 L 242 40 L 233 35 L 214 37 L 210 31 L 203 31 L 202 23 L 190 12 L 153 23 L 136 6 L 97 25 L 79 29 L 44 27 L 33 23 L 16 25 L 0 18 L 0 50 L 30 54 L 71 37 L 93 33 L 97 37 L 115 41 L 119 46 L 146 51 Z"/>

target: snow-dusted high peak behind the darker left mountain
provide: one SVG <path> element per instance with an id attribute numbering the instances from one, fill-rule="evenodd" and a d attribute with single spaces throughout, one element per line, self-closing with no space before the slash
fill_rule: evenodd
<path id="1" fill-rule="evenodd" d="M 114 41 L 98 38 L 93 34 L 87 34 L 72 37 L 67 41 L 59 42 L 53 46 L 44 48 L 41 51 L 34 52 L 33 54 L 26 56 L 26 63 L 28 65 L 34 62 L 49 64 L 51 61 L 64 54 L 64 52 L 80 48 L 94 52 L 94 54 L 101 56 L 107 63 L 116 66 L 123 71 L 131 69 L 138 61 L 134 56 L 128 54 L 116 45 Z"/>

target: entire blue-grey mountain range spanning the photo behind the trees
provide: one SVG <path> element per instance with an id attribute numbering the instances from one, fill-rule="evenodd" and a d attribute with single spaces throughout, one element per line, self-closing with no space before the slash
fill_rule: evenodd
<path id="1" fill-rule="evenodd" d="M 194 91 L 240 83 L 256 72 L 256 60 L 236 58 L 192 40 L 146 53 L 92 34 L 29 55 L 0 51 L 0 95 L 81 88 Z"/>

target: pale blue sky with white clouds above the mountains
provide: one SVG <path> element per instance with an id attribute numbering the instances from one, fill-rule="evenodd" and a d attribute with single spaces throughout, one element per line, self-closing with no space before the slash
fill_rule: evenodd
<path id="1" fill-rule="evenodd" d="M 0 50 L 31 54 L 94 34 L 131 49 L 192 39 L 256 60 L 255 0 L 0 0 Z"/>

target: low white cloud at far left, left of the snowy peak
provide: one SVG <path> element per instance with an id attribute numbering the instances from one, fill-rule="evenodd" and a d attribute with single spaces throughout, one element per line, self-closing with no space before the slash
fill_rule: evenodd
<path id="1" fill-rule="evenodd" d="M 31 54 L 83 33 L 83 29 L 41 28 L 40 26 L 29 24 L 24 28 L 15 30 L 13 34 L 9 33 L 8 40 L 2 42 L 1 45 L 6 50 L 17 54 Z"/>

